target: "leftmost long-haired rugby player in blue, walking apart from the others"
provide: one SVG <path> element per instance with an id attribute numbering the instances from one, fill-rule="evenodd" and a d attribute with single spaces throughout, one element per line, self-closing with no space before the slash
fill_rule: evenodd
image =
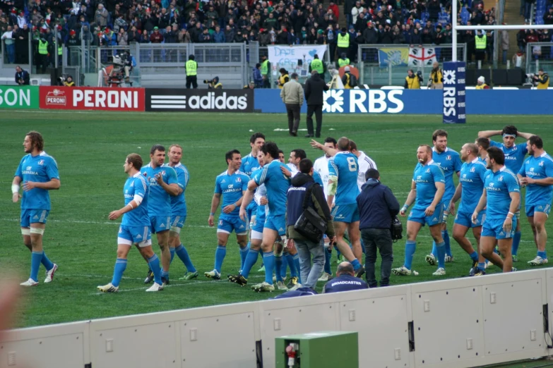
<path id="1" fill-rule="evenodd" d="M 50 262 L 42 249 L 42 236 L 51 209 L 49 190 L 57 190 L 59 181 L 58 165 L 54 157 L 44 152 L 42 135 L 30 131 L 23 140 L 26 155 L 21 159 L 16 175 L 11 183 L 13 203 L 21 198 L 21 234 L 23 244 L 31 251 L 30 277 L 21 286 L 38 285 L 40 264 L 46 268 L 44 283 L 54 277 L 58 266 Z M 19 194 L 23 183 L 23 195 Z"/>

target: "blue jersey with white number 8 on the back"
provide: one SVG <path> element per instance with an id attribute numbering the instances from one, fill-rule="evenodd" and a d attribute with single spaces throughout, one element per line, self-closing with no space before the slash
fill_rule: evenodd
<path id="1" fill-rule="evenodd" d="M 355 154 L 347 151 L 340 151 L 328 161 L 328 176 L 338 178 L 338 188 L 334 202 L 336 205 L 357 204 L 357 173 L 359 165 Z"/>

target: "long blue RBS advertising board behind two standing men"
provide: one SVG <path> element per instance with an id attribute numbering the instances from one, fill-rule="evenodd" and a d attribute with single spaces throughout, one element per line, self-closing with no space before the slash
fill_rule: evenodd
<path id="1" fill-rule="evenodd" d="M 285 113 L 280 90 L 254 90 L 254 109 Z M 553 90 L 467 90 L 466 114 L 553 114 Z M 442 114 L 441 90 L 330 90 L 325 92 L 324 113 L 338 114 Z M 304 102 L 302 113 L 307 112 Z"/>

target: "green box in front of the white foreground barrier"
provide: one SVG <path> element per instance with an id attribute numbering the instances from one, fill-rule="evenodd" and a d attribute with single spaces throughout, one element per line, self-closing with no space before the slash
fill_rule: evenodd
<path id="1" fill-rule="evenodd" d="M 357 332 L 320 331 L 275 338 L 276 368 L 358 368 Z"/>

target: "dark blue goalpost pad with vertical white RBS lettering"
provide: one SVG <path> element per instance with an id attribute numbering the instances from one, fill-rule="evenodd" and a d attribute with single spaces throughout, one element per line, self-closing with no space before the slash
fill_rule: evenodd
<path id="1" fill-rule="evenodd" d="M 464 124 L 465 114 L 465 63 L 444 63 L 444 123 Z"/>

